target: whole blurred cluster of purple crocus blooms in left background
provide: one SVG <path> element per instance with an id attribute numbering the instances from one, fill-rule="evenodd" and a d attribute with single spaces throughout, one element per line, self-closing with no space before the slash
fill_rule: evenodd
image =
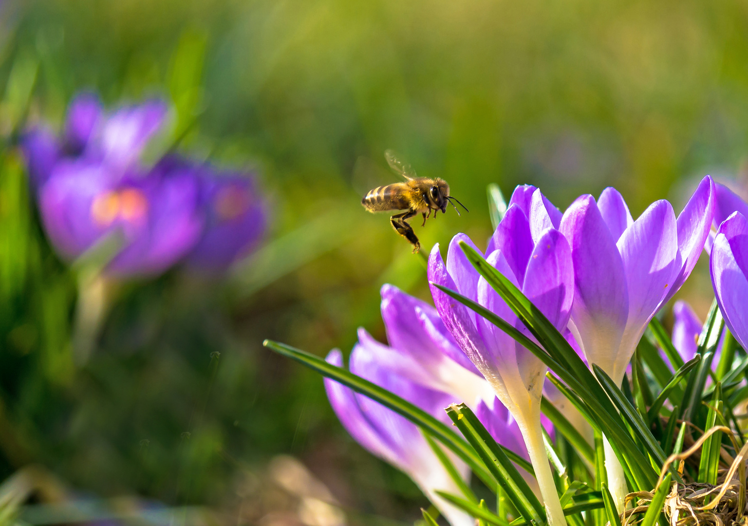
<path id="1" fill-rule="evenodd" d="M 116 278 L 157 275 L 186 260 L 224 269 L 266 229 L 266 210 L 250 174 L 218 170 L 175 154 L 143 161 L 165 129 L 168 106 L 152 100 L 107 113 L 82 94 L 64 132 L 28 132 L 22 149 L 40 215 L 58 253 L 74 261 L 105 241 Z"/>

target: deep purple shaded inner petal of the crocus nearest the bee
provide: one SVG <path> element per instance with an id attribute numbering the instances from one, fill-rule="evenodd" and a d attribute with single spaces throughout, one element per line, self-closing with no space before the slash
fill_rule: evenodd
<path id="1" fill-rule="evenodd" d="M 527 215 L 517 204 L 512 204 L 506 210 L 494 235 L 488 241 L 486 254 L 497 250 L 501 251 L 506 258 L 506 263 L 509 263 L 509 268 L 512 269 L 512 275 L 515 275 L 521 283 L 524 280 L 525 269 L 527 269 L 527 260 L 533 251 L 533 235 Z M 450 274 L 454 275 L 451 271 Z"/>

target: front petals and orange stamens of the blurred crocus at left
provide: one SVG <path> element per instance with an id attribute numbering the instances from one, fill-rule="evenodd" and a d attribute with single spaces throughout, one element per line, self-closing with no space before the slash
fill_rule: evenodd
<path id="1" fill-rule="evenodd" d="M 64 160 L 40 189 L 39 207 L 49 239 L 66 260 L 116 236 L 121 249 L 108 263 L 110 275 L 163 272 L 202 229 L 190 171 L 162 173 L 156 167 L 147 178 L 113 181 L 98 163 Z"/>

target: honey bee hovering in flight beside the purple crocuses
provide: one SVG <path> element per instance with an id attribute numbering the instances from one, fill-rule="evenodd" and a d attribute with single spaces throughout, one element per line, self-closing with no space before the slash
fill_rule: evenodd
<path id="1" fill-rule="evenodd" d="M 420 213 L 423 215 L 423 223 L 426 225 L 426 219 L 434 211 L 434 218 L 439 210 L 441 213 L 447 212 L 447 203 L 450 203 L 460 215 L 460 211 L 453 203 L 456 201 L 465 212 L 469 210 L 464 204 L 457 201 L 450 195 L 450 186 L 447 181 L 429 177 L 416 177 L 416 173 L 411 165 L 406 165 L 396 158 L 392 150 L 384 152 L 384 158 L 390 168 L 396 174 L 405 178 L 405 183 L 392 183 L 387 186 L 377 186 L 375 189 L 367 192 L 361 200 L 364 208 L 370 212 L 384 212 L 386 210 L 405 210 L 401 214 L 390 217 L 390 223 L 397 233 L 413 245 L 413 253 L 420 251 L 420 242 L 413 231 L 413 227 L 408 224 L 408 219 Z M 428 213 L 426 213 L 428 212 Z"/>

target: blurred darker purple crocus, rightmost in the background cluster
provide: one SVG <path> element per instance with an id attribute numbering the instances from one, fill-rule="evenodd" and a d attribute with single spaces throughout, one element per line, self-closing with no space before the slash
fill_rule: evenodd
<path id="1" fill-rule="evenodd" d="M 206 212 L 203 236 L 188 263 L 209 271 L 224 270 L 255 248 L 266 231 L 265 203 L 254 181 L 243 174 L 200 170 L 200 206 Z"/>

